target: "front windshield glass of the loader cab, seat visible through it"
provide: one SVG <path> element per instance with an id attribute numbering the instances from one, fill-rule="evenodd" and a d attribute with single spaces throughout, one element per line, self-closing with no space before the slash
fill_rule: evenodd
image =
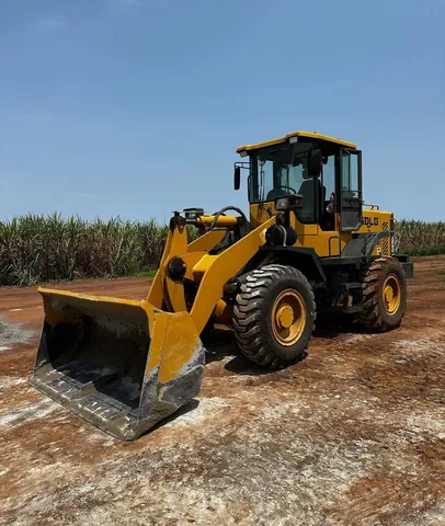
<path id="1" fill-rule="evenodd" d="M 317 213 L 317 185 L 319 178 L 309 175 L 307 168 L 308 145 L 281 145 L 260 150 L 251 157 L 250 203 L 275 201 L 285 194 L 301 194 L 303 209 L 298 218 L 315 222 Z"/>

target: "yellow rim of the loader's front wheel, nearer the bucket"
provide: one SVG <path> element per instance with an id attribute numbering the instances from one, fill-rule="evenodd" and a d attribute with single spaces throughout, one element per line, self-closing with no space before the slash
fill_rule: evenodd
<path id="1" fill-rule="evenodd" d="M 306 306 L 303 296 L 293 288 L 283 290 L 272 307 L 272 330 L 282 345 L 294 345 L 306 327 Z"/>

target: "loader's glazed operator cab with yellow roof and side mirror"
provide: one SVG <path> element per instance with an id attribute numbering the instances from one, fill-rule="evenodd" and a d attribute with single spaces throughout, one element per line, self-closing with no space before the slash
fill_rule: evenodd
<path id="1" fill-rule="evenodd" d="M 353 142 L 310 132 L 237 149 L 249 162 L 235 164 L 235 187 L 249 169 L 249 203 L 271 210 L 276 197 L 299 195 L 299 222 L 322 230 L 362 225 L 362 152 Z M 340 222 L 338 222 L 340 221 Z"/>

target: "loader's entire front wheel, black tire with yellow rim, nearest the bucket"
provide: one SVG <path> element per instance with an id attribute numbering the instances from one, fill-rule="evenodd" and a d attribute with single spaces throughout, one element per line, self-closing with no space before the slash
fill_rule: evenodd
<path id="1" fill-rule="evenodd" d="M 242 353 L 271 369 L 301 359 L 315 320 L 309 282 L 300 271 L 278 264 L 252 271 L 233 309 L 235 335 Z"/>

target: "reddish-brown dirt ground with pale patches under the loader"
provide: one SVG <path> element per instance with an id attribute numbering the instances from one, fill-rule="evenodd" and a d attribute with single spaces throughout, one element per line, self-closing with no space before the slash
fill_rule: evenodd
<path id="1" fill-rule="evenodd" d="M 145 278 L 62 285 L 140 298 Z M 445 256 L 415 261 L 402 327 L 319 324 L 308 357 L 264 373 L 229 331 L 199 398 L 135 443 L 27 385 L 43 319 L 0 289 L 0 524 L 445 524 Z"/>

